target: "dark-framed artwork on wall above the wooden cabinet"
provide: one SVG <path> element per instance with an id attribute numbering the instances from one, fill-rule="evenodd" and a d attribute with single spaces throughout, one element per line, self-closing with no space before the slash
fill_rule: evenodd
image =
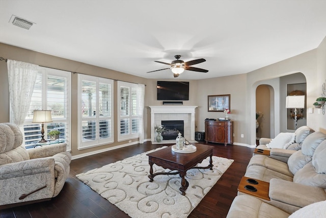
<path id="1" fill-rule="evenodd" d="M 223 112 L 230 108 L 230 94 L 208 95 L 208 112 Z"/>

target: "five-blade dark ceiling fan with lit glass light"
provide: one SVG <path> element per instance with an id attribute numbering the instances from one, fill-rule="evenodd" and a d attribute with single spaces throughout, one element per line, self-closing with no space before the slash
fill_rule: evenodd
<path id="1" fill-rule="evenodd" d="M 199 63 L 205 62 L 206 60 L 203 59 L 203 58 L 184 62 L 182 60 L 179 60 L 181 58 L 181 55 L 176 55 L 174 57 L 177 60 L 172 61 L 171 64 L 165 63 L 165 62 L 161 62 L 161 61 L 155 61 L 155 62 L 161 63 L 161 64 L 166 64 L 166 65 L 170 65 L 171 67 L 164 68 L 164 69 L 171 69 L 172 72 L 173 72 L 173 76 L 175 78 L 176 77 L 179 77 L 179 75 L 182 74 L 182 72 L 184 70 L 191 70 L 191 71 L 197 71 L 197 72 L 208 72 L 207 69 L 201 69 L 201 68 L 197 68 L 197 67 L 192 67 L 191 66 L 191 65 L 194 65 L 194 64 L 199 64 Z M 155 71 L 164 70 L 164 69 L 158 69 L 158 70 L 153 70 L 153 71 L 149 71 L 149 72 L 155 72 Z"/>

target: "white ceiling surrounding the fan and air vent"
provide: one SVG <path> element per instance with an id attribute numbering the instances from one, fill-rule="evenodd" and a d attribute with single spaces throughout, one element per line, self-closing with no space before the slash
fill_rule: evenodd
<path id="1" fill-rule="evenodd" d="M 12 25 L 16 15 L 35 24 Z M 207 73 L 243 74 L 315 49 L 326 36 L 326 0 L 0 0 L 0 42 L 144 78 L 173 79 L 154 62 L 198 58 Z M 7 57 L 4 57 L 7 58 Z"/>

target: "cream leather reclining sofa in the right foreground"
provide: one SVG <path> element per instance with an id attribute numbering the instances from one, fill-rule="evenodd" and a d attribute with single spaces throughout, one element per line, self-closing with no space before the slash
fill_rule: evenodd
<path id="1" fill-rule="evenodd" d="M 298 151 L 273 150 L 274 156 L 254 155 L 244 175 L 268 182 L 270 200 L 238 191 L 227 217 L 288 217 L 308 205 L 326 201 L 325 134 L 308 134 Z"/>

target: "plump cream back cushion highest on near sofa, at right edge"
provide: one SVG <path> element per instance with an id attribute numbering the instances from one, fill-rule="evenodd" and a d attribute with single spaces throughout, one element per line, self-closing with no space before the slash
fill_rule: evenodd
<path id="1" fill-rule="evenodd" d="M 306 137 L 302 142 L 301 151 L 304 155 L 313 156 L 315 149 L 326 139 L 326 135 L 322 132 L 314 132 Z"/>

